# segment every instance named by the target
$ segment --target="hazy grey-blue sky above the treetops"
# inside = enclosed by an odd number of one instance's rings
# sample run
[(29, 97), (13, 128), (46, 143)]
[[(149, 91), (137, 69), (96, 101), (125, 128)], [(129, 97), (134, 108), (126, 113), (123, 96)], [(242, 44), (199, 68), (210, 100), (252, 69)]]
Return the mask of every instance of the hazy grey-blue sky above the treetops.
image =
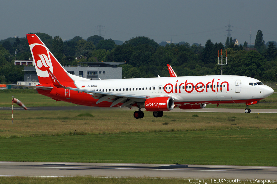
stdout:
[(2, 0), (0, 40), (47, 33), (63, 40), (99, 35), (126, 41), (147, 36), (157, 43), (171, 40), (204, 45), (225, 43), (226, 27), (240, 44), (254, 44), (257, 31), (263, 39), (277, 41), (276, 0)]

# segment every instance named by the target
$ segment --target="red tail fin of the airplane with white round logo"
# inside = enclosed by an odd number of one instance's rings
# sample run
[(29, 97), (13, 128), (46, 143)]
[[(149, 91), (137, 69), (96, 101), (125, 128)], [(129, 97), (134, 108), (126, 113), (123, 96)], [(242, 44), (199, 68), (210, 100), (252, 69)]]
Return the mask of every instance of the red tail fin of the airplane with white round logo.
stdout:
[(50, 70), (60, 83), (89, 80), (68, 73), (36, 34), (27, 34), (40, 84), (51, 84)]

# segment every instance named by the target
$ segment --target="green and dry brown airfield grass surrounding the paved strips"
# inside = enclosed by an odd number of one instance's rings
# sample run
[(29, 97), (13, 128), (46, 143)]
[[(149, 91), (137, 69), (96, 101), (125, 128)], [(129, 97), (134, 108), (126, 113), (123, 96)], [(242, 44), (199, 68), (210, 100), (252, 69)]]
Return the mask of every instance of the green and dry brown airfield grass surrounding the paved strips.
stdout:
[[(30, 106), (75, 106), (34, 90), (0, 92)], [(277, 108), (277, 96), (251, 108)], [(216, 105), (209, 105), (215, 108)], [(245, 108), (244, 104), (218, 108)], [(161, 118), (134, 110), (0, 111), (1, 161), (164, 163), (277, 166), (277, 117), (273, 113), (178, 113)], [(76, 130), (76, 131), (75, 131)], [(74, 134), (75, 132), (75, 134)], [(120, 133), (119, 133), (120, 132)], [(18, 138), (12, 138), (18, 137)], [(189, 183), (154, 178), (0, 177), (0, 183)]]

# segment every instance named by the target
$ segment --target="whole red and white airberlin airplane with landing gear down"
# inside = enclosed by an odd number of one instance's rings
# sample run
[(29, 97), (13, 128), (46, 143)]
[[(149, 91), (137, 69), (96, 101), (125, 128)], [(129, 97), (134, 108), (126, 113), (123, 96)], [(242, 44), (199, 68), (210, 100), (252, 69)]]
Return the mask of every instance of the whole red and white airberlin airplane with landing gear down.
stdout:
[(177, 106), (201, 109), (207, 104), (245, 103), (245, 113), (250, 113), (248, 105), (257, 104), (274, 92), (257, 79), (232, 75), (85, 79), (65, 71), (36, 34), (27, 34), (27, 39), (40, 83), (32, 87), (39, 94), (78, 105), (137, 107), (134, 112), (137, 119), (144, 116), (141, 108), (153, 112), (154, 117), (162, 117), (163, 111)]

